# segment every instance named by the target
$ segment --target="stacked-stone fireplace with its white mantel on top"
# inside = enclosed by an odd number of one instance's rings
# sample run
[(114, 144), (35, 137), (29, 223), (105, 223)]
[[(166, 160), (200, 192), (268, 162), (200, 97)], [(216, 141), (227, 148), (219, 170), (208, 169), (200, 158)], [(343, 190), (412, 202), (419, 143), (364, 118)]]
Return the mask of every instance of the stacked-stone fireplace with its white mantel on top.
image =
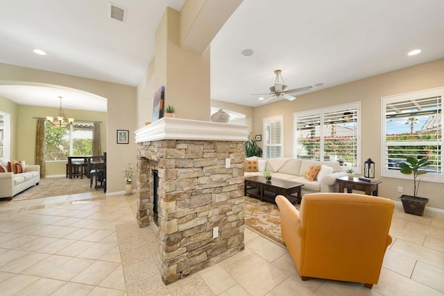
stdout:
[(146, 227), (157, 207), (164, 283), (244, 249), (247, 135), (247, 126), (176, 118), (136, 131), (137, 220)]

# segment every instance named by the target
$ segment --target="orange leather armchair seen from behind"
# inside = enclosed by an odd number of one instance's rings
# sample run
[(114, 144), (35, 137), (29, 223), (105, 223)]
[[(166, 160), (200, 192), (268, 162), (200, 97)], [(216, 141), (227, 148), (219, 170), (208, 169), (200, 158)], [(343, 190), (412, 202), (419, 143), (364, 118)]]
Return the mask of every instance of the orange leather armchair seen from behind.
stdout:
[(309, 277), (354, 281), (372, 288), (391, 244), (393, 201), (350, 193), (305, 195), (300, 211), (282, 195), (282, 238), (302, 281)]

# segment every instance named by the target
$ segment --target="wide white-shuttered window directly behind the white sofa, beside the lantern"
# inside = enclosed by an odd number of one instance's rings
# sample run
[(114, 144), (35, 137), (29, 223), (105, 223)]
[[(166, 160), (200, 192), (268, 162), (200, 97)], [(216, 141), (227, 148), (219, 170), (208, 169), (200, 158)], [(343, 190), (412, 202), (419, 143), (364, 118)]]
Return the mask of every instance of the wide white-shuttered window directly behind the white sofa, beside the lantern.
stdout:
[(296, 158), (339, 161), (359, 172), (360, 103), (295, 113)]

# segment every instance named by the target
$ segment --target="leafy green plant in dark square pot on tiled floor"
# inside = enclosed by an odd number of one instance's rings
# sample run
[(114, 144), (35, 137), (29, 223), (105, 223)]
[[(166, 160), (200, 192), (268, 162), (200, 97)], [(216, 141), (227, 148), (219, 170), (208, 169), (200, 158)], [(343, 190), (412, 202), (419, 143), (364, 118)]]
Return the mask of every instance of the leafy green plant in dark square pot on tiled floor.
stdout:
[(426, 197), (418, 197), (418, 189), (421, 179), (418, 176), (427, 174), (426, 170), (421, 170), (422, 167), (430, 165), (428, 158), (416, 159), (407, 157), (406, 161), (399, 164), (402, 174), (413, 174), (413, 196), (401, 195), (402, 207), (405, 213), (422, 216), (424, 208), (429, 199)]

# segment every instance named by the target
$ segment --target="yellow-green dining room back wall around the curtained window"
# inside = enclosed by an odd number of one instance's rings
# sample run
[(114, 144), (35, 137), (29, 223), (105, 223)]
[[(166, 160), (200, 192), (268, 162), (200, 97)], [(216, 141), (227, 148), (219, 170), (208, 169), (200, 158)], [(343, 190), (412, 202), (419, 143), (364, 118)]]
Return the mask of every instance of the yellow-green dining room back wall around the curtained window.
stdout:
[[(17, 135), (18, 139), (18, 158), (20, 160), (25, 160), (26, 163), (34, 163), (34, 149), (29, 149), (29, 147), (35, 147), (35, 118), (33, 117), (46, 117), (46, 115), (56, 116), (58, 113), (58, 108), (48, 108), (48, 107), (37, 107), (37, 106), (24, 106), (19, 105), (18, 108), (18, 118), (19, 118), (19, 129)], [(106, 113), (104, 112), (93, 112), (85, 110), (73, 110), (66, 109), (65, 114), (69, 117), (74, 117), (74, 120), (88, 120), (97, 121), (101, 123), (101, 148), (102, 151), (106, 151)], [(65, 164), (67, 162), (48, 162), (46, 163), (46, 176), (53, 175), (64, 175)]]

